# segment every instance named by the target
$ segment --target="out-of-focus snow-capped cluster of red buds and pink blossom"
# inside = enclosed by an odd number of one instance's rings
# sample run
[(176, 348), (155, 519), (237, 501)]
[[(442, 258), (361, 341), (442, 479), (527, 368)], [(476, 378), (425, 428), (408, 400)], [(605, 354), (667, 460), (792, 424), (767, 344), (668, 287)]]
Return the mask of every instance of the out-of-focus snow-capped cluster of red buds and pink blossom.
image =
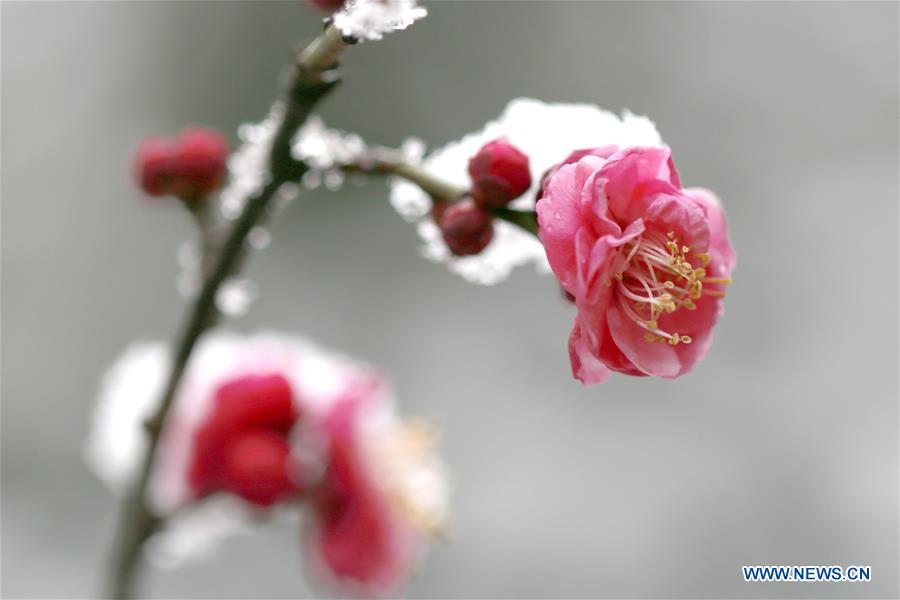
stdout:
[[(167, 366), (164, 345), (137, 346), (105, 379), (88, 460), (114, 489), (133, 481)], [(398, 593), (446, 519), (435, 438), (399, 417), (370, 366), (289, 336), (209, 334), (160, 440), (148, 501), (167, 519), (151, 558), (174, 565), (261, 515), (302, 513), (303, 562), (319, 579), (347, 595)]]

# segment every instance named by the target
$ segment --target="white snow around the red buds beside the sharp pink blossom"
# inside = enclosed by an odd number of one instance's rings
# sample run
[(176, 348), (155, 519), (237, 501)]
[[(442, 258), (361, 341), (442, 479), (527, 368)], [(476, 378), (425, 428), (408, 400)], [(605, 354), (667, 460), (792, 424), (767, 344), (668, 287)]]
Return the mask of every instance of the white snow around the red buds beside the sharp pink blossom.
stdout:
[[(467, 189), (469, 159), (487, 142), (506, 137), (528, 155), (532, 187), (510, 207), (534, 210), (541, 175), (571, 151), (616, 144), (657, 146), (662, 143), (656, 127), (646, 117), (625, 112), (621, 118), (593, 104), (545, 104), (538, 100), (513, 100), (496, 121), (481, 131), (470, 133), (432, 152), (422, 168), (445, 181)], [(428, 217), (431, 201), (418, 186), (393, 178), (391, 204), (408, 221), (418, 222), (424, 245), (422, 255), (445, 262), (450, 270), (468, 281), (494, 284), (505, 279), (519, 265), (534, 264), (538, 272), (549, 273), (544, 247), (530, 233), (505, 221), (494, 222), (494, 239), (476, 256), (455, 257), (444, 244), (440, 230)]]

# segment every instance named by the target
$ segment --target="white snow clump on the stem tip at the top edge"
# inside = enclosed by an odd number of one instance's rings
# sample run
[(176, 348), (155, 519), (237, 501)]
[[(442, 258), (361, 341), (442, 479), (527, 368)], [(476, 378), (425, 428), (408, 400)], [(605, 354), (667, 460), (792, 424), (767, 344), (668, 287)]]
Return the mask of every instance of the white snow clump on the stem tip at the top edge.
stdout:
[(334, 15), (334, 26), (358, 40), (380, 40), (427, 14), (416, 0), (350, 0)]

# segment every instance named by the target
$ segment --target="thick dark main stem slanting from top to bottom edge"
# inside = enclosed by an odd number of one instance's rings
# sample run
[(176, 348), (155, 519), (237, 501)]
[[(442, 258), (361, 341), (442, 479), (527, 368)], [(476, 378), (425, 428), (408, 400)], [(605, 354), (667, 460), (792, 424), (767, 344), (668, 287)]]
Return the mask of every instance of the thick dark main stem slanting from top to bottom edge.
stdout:
[(241, 215), (235, 221), (218, 254), (212, 258), (203, 287), (194, 299), (187, 319), (176, 338), (172, 366), (159, 408), (146, 423), (148, 444), (140, 476), (121, 509), (109, 590), (110, 595), (115, 598), (124, 599), (132, 596), (143, 544), (162, 523), (162, 519), (146, 506), (147, 488), (159, 446), (160, 433), (188, 360), (197, 340), (204, 331), (215, 325), (218, 319), (216, 294), (222, 284), (240, 268), (247, 234), (264, 218), (279, 188), (286, 182), (296, 180), (305, 171), (305, 166), (291, 156), (291, 141), (313, 107), (337, 85), (339, 77), (334, 67), (345, 48), (346, 43), (341, 39), (340, 32), (329, 25), (297, 57), (287, 89), (284, 116), (272, 141), (269, 155), (271, 177), (261, 190), (247, 198)]

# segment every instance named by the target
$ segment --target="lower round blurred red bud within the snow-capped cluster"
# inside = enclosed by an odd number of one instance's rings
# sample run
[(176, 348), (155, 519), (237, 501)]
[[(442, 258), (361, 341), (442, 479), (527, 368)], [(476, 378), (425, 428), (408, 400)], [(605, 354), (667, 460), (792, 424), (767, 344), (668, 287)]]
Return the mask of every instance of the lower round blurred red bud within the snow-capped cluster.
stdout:
[(287, 441), (270, 431), (243, 433), (222, 453), (223, 487), (247, 502), (271, 506), (294, 491)]

